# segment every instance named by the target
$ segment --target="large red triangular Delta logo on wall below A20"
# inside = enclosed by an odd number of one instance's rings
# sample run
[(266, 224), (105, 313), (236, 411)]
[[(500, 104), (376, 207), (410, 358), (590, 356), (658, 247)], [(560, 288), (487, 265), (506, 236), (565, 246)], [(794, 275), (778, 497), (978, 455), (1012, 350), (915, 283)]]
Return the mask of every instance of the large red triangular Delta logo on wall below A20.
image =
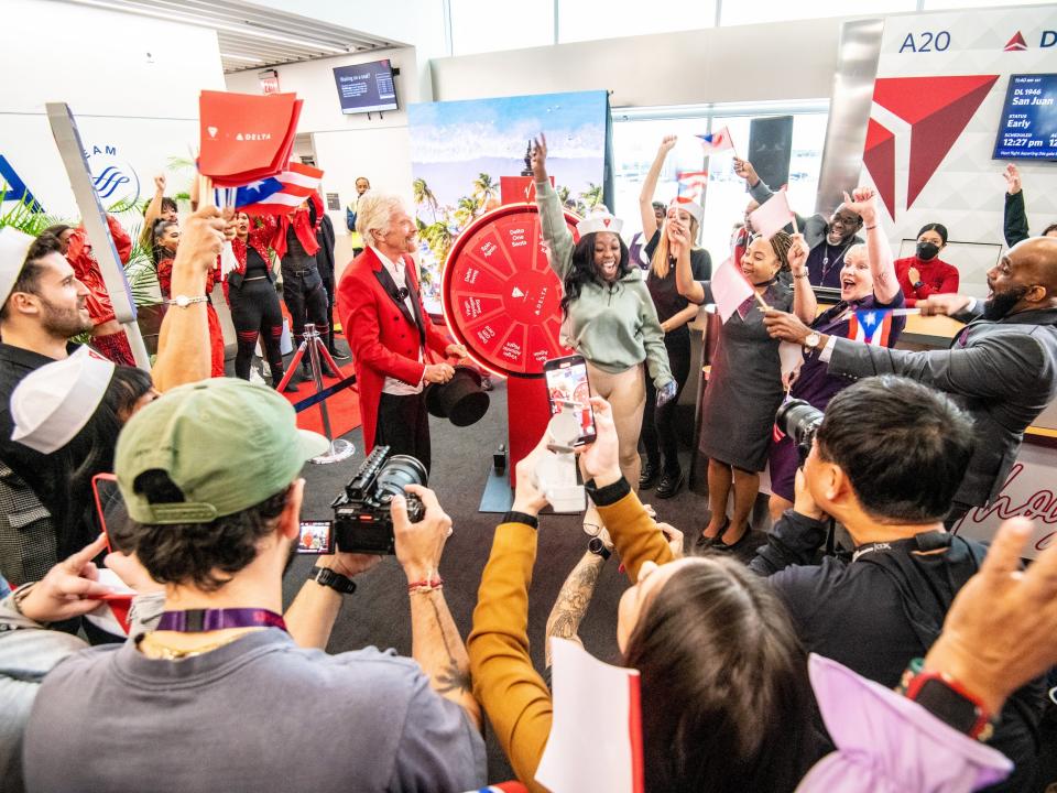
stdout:
[(962, 77), (882, 77), (873, 86), (862, 162), (894, 219), (896, 133), (873, 116), (891, 115), (909, 124), (906, 208), (925, 189), (944, 157), (961, 137), (999, 75)]

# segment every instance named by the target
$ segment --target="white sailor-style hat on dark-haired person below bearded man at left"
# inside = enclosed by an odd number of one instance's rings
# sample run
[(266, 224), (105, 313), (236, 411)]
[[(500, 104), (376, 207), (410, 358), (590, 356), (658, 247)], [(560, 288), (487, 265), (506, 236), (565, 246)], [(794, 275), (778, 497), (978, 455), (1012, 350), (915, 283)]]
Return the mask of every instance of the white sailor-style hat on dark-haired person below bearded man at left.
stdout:
[(11, 439), (42, 454), (61, 449), (91, 419), (113, 370), (112, 361), (80, 347), (26, 374), (11, 394)]

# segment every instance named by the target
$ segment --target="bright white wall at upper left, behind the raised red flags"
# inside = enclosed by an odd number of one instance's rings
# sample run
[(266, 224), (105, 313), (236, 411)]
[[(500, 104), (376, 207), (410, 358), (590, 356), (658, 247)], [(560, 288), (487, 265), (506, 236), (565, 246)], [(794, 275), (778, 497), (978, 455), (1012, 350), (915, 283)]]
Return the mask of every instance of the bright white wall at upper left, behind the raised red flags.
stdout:
[(152, 195), (152, 176), (198, 140), (199, 90), (224, 88), (216, 33), (200, 28), (4, 0), (3, 29), (0, 154), (47, 211), (64, 217), (78, 213), (44, 102), (69, 104), (94, 174), (113, 164), (128, 177), (108, 204), (137, 186)]

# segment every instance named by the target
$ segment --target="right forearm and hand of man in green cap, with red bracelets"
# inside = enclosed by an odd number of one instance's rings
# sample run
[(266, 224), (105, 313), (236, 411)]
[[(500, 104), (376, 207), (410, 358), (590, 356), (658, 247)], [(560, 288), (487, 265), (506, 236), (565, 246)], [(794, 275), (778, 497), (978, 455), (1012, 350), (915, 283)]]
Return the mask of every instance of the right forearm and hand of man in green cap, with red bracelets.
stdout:
[(439, 583), (440, 554), (451, 519), (432, 490), (415, 485), (405, 490), (418, 496), (426, 508), (425, 517), (412, 523), (404, 499), (396, 497), (392, 502), (396, 560), (407, 576), (411, 597), (411, 654), (429, 677), (433, 689), (460, 705), (481, 728), (481, 708), (470, 685), (470, 660)]

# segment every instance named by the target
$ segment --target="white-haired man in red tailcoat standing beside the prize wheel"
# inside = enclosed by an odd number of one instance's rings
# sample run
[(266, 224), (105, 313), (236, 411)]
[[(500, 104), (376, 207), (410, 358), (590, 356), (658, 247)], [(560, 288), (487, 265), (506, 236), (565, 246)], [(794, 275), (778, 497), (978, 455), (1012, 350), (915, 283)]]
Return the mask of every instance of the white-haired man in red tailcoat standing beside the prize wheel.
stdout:
[(417, 457), (429, 470), (425, 383), (445, 383), (449, 363), (428, 363), (427, 350), (466, 357), (423, 308), (411, 253), (417, 230), (401, 199), (366, 193), (356, 214), (363, 252), (338, 284), (338, 316), (352, 350), (363, 419), (364, 453), (375, 445)]

